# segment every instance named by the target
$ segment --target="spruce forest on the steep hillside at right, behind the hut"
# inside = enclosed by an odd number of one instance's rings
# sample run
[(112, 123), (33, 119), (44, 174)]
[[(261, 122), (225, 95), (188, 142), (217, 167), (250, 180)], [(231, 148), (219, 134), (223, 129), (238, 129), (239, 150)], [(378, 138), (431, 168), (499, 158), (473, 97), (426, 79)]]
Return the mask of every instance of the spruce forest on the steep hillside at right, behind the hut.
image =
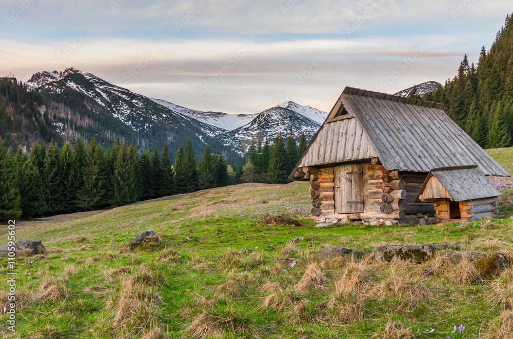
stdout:
[[(411, 96), (415, 96), (412, 93)], [(513, 136), (513, 18), (506, 16), (478, 65), (465, 55), (458, 75), (425, 100), (444, 103), (445, 112), (480, 146), (492, 149), (511, 145)]]

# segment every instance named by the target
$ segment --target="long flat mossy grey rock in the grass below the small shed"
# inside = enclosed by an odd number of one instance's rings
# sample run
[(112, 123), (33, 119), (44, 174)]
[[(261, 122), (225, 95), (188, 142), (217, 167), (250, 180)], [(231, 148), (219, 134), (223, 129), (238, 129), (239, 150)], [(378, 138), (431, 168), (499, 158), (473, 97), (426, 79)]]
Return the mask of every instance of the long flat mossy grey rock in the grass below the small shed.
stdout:
[(435, 257), (435, 253), (443, 249), (459, 250), (454, 245), (405, 245), (405, 246), (381, 246), (374, 251), (374, 259), (383, 261), (411, 260), (424, 262)]

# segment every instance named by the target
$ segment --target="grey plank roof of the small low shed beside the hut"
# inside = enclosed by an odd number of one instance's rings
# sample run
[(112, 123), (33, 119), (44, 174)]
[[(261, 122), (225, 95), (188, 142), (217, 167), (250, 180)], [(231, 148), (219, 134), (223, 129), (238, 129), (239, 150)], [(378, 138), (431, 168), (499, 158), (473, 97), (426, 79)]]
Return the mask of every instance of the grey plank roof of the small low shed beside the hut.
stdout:
[(477, 167), (477, 165), (473, 165), (431, 169), (415, 199), (415, 203), (420, 202), (419, 196), (424, 192), (431, 176), (440, 181), (455, 201), (502, 196), (494, 184)]

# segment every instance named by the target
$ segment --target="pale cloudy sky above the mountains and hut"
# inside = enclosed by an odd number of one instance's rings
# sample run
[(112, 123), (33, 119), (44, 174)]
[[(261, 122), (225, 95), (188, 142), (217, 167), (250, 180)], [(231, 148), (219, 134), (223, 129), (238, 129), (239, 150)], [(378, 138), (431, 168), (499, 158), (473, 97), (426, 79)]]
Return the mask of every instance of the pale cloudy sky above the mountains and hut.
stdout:
[(512, 12), (511, 0), (0, 0), (0, 76), (73, 67), (201, 111), (329, 111), (346, 86), (443, 84)]

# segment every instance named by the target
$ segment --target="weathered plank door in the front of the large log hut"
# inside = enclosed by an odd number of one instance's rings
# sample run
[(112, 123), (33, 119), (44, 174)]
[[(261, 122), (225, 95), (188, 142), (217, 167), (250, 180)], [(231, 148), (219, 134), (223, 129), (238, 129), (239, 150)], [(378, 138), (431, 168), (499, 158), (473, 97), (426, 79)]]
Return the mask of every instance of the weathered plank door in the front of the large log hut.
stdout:
[(335, 213), (363, 213), (365, 209), (364, 164), (335, 166)]

